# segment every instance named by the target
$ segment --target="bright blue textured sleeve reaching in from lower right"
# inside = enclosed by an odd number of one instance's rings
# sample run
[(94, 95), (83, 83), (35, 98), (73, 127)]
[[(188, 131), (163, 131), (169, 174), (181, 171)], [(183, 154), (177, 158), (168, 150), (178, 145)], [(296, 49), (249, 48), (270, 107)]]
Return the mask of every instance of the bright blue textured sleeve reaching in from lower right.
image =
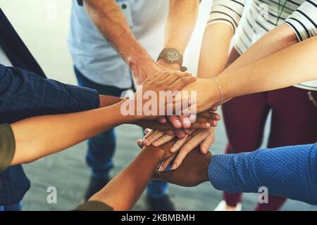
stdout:
[(209, 180), (222, 191), (257, 193), (265, 186), (270, 195), (317, 205), (317, 143), (213, 155)]

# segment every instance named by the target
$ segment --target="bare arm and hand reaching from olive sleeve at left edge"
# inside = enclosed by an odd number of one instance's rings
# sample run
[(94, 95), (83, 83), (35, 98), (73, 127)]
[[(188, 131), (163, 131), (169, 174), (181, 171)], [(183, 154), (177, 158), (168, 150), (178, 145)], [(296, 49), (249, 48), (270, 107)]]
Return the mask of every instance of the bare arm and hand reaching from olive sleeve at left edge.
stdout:
[[(195, 79), (185, 73), (178, 73), (178, 75), (162, 73), (152, 75), (142, 85), (144, 91), (151, 90), (159, 95), (161, 89), (180, 90)], [(135, 94), (137, 95), (138, 93)], [(123, 105), (127, 101), (135, 103), (135, 98), (123, 100), (105, 108), (64, 115), (32, 117), (11, 124), (15, 137), (15, 154), (11, 165), (32, 162), (96, 136), (101, 131), (116, 127), (118, 124), (135, 123), (137, 120), (150, 117), (156, 119), (159, 114), (156, 112), (157, 115), (146, 116), (144, 112), (140, 115), (134, 112), (132, 115), (124, 115)], [(163, 107), (158, 105), (158, 108), (160, 106)], [(143, 108), (143, 105), (141, 107)]]

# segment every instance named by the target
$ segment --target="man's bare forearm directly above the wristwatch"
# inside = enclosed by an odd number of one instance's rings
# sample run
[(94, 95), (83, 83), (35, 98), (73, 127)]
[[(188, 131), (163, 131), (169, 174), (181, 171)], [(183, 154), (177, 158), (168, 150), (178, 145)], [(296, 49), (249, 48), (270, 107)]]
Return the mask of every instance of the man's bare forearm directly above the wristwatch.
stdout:
[(170, 0), (164, 48), (184, 53), (198, 15), (198, 0)]

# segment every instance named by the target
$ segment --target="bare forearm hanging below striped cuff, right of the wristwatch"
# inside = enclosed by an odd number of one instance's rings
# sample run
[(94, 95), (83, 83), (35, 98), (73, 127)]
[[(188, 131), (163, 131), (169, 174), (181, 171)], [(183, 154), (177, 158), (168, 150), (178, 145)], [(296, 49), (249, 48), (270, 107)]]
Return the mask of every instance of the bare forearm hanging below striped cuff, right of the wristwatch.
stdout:
[(225, 23), (213, 23), (206, 27), (201, 44), (198, 77), (216, 77), (225, 69), (232, 39), (232, 29)]

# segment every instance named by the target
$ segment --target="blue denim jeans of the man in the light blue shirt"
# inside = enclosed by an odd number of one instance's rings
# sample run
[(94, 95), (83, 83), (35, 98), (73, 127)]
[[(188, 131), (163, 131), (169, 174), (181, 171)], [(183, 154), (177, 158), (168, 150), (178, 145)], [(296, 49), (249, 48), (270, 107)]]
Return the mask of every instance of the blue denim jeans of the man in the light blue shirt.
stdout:
[[(116, 86), (97, 84), (87, 79), (74, 67), (75, 75), (80, 86), (95, 89), (99, 94), (108, 96), (120, 96), (125, 89)], [(86, 155), (87, 165), (92, 169), (92, 176), (95, 178), (106, 178), (113, 168), (113, 155), (116, 150), (115, 129), (105, 131), (98, 136), (88, 140), (88, 151)], [(152, 198), (159, 198), (168, 194), (168, 184), (163, 181), (150, 181), (147, 191)]]

